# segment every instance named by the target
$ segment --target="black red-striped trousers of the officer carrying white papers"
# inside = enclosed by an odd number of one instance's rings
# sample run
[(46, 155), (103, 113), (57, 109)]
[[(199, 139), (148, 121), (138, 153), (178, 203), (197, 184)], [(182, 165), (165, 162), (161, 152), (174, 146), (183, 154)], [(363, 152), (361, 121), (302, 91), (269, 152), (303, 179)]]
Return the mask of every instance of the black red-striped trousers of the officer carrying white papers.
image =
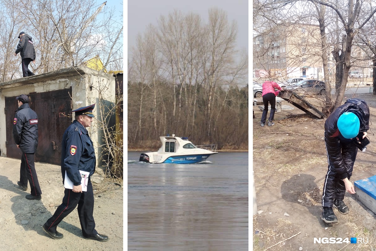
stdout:
[(82, 234), (84, 237), (95, 236), (98, 232), (95, 230), (93, 218), (94, 194), (91, 181), (88, 181), (87, 192), (75, 193), (72, 189), (65, 189), (63, 202), (56, 209), (53, 216), (47, 220), (46, 226), (49, 231), (56, 232), (59, 223), (76, 208), (78, 204), (78, 217), (80, 219)]

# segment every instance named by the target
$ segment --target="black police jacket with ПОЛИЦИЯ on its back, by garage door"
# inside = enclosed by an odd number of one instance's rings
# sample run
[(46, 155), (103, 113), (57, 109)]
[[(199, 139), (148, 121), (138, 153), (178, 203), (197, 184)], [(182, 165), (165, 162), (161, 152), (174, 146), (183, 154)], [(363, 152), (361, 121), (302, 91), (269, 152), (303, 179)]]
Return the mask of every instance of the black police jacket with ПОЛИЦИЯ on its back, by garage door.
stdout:
[(14, 114), (13, 138), (24, 153), (32, 154), (38, 147), (38, 116), (28, 103), (21, 105)]

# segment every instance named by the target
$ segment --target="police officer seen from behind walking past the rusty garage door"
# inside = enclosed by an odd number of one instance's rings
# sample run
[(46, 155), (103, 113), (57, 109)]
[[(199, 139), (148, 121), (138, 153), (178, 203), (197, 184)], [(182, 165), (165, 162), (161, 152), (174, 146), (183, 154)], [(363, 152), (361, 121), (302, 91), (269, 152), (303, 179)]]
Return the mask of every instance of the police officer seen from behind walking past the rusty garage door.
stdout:
[(41, 187), (36, 176), (34, 153), (38, 146), (38, 116), (29, 106), (29, 97), (21, 94), (16, 97), (18, 109), (13, 120), (13, 138), (17, 147), (21, 149), (20, 181), (18, 186), (27, 190), (29, 180), (31, 194), (26, 199), (41, 199)]

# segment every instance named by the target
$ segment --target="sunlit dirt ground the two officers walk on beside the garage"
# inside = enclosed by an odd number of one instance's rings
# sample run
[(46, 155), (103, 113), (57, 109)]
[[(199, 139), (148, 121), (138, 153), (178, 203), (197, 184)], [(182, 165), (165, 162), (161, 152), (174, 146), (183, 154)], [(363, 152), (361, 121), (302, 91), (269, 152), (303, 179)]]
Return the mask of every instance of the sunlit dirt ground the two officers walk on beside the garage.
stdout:
[[(108, 235), (108, 242), (83, 239), (76, 209), (58, 226), (64, 238), (54, 240), (44, 233), (42, 225), (64, 195), (60, 166), (35, 163), (42, 199), (29, 201), (25, 196), (30, 194), (30, 187), (23, 191), (17, 185), (20, 163), (17, 159), (0, 157), (0, 250), (123, 250), (123, 186), (114, 190), (119, 186), (108, 184), (110, 189), (99, 192), (108, 181), (93, 183), (96, 230)], [(23, 221), (27, 224), (22, 224)]]

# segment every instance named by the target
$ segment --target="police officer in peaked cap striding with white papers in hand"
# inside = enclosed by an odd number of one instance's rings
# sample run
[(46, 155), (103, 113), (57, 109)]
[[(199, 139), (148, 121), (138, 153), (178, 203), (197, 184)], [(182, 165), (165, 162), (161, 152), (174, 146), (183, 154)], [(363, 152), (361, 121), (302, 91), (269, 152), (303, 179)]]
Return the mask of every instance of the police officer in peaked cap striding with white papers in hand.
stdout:
[[(43, 230), (53, 239), (62, 239), (63, 234), (56, 231), (58, 224), (78, 204), (78, 215), (82, 228), (82, 235), (85, 239), (108, 241), (108, 237), (99, 234), (95, 230), (93, 218), (94, 195), (90, 176), (94, 173), (96, 166), (96, 156), (92, 141), (86, 131), (90, 127), (92, 111), (95, 104), (74, 110), (73, 123), (65, 130), (61, 143), (61, 174), (63, 184), (65, 172), (73, 182), (73, 189), (65, 189), (62, 204), (56, 209), (53, 216), (43, 225)], [(81, 175), (79, 170), (89, 172), (87, 191), (82, 192)]]

